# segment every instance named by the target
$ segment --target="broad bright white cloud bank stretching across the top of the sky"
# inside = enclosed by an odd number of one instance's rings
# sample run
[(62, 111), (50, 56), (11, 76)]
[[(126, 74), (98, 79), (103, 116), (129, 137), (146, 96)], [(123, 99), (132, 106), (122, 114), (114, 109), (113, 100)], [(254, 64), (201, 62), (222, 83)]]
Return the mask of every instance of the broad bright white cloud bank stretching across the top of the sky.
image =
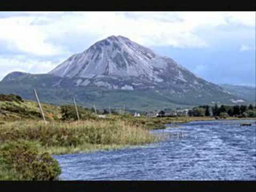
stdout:
[(19, 51), (36, 55), (67, 53), (68, 47), (49, 41), (54, 38), (63, 38), (65, 42), (65, 38), (83, 35), (97, 41), (110, 35), (123, 35), (145, 46), (204, 47), (207, 42), (196, 33), (200, 27), (210, 29), (232, 23), (255, 26), (255, 12), (21, 13), (0, 18), (0, 39)]

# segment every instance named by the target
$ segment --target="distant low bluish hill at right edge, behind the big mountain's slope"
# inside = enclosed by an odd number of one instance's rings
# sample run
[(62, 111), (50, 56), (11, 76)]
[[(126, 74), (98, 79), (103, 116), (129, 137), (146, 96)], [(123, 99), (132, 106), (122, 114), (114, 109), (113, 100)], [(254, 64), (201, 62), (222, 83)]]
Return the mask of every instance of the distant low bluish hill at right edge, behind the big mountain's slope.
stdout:
[(241, 97), (249, 102), (256, 103), (256, 87), (220, 84), (220, 86), (229, 93)]

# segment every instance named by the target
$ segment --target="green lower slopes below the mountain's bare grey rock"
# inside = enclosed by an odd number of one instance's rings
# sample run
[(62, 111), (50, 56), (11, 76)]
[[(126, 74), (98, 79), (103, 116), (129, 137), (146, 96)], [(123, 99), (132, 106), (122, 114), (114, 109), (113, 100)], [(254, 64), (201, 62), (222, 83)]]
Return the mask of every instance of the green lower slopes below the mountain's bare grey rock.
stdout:
[[(42, 102), (55, 105), (72, 103), (73, 97), (76, 97), (78, 105), (87, 108), (92, 108), (95, 103), (98, 109), (109, 106), (123, 109), (125, 106), (128, 110), (138, 111), (191, 108), (198, 105), (214, 105), (214, 103), (230, 105), (234, 104), (231, 99), (241, 98), (239, 93), (230, 95), (225, 92), (214, 92), (210, 86), (207, 90), (175, 92), (169, 89), (109, 90), (95, 86), (76, 86), (76, 82), (76, 78), (19, 73), (15, 77), (7, 75), (0, 82), (0, 94), (12, 93), (24, 99), (35, 100), (33, 89), (36, 89)], [(243, 99), (252, 100), (251, 96)]]

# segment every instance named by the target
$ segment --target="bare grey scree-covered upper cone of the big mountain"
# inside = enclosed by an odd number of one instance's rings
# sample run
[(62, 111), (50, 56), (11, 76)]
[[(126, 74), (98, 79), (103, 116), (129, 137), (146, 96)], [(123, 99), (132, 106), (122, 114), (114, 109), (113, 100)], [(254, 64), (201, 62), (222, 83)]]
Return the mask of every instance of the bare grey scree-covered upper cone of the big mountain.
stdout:
[(49, 74), (75, 78), (76, 86), (223, 92), (220, 86), (196, 77), (171, 58), (158, 55), (123, 36), (110, 36), (95, 43), (84, 52), (71, 56)]

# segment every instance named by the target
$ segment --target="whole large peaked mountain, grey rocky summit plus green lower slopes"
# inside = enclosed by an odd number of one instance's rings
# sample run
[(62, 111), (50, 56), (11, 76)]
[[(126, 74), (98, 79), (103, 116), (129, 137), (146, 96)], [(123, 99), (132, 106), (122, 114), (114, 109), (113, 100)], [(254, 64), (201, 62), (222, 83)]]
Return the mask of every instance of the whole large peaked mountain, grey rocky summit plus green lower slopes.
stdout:
[[(0, 82), (0, 93), (44, 102), (97, 103), (131, 109), (244, 103), (219, 85), (197, 77), (173, 59), (156, 54), (123, 36), (110, 36), (74, 54), (48, 74), (13, 72)], [(31, 94), (32, 93), (32, 94)]]

